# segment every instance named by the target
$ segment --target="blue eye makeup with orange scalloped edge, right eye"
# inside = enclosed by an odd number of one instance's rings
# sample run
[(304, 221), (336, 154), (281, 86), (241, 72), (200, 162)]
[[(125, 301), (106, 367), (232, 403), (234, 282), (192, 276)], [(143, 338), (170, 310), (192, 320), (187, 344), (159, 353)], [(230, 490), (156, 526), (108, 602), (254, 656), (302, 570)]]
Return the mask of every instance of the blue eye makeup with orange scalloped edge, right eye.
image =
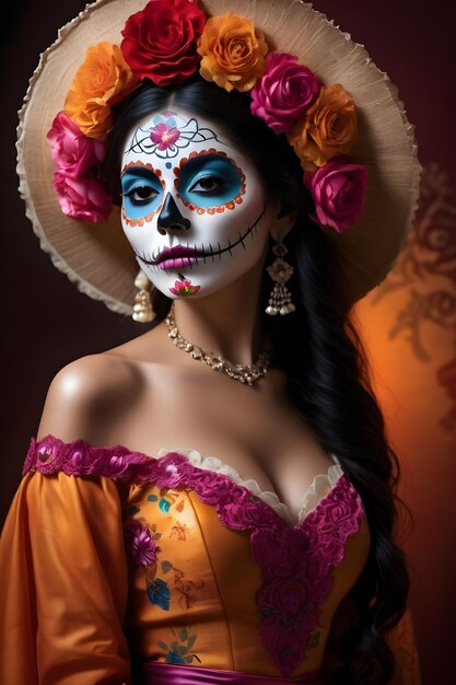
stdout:
[(185, 202), (207, 209), (233, 200), (242, 184), (242, 172), (233, 162), (219, 154), (204, 154), (182, 167), (178, 190)]

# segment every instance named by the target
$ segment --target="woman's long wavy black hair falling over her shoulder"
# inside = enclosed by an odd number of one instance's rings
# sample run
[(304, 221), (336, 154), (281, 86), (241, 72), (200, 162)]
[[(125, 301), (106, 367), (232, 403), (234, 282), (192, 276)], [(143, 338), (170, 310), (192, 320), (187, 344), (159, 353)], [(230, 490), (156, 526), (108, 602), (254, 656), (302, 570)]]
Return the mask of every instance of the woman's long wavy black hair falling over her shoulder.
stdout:
[[(402, 616), (409, 589), (405, 557), (394, 542), (399, 465), (385, 437), (366, 355), (350, 317), (349, 288), (332, 243), (308, 218), (301, 165), (285, 136), (277, 136), (252, 115), (248, 96), (227, 93), (199, 77), (177, 88), (145, 82), (115, 108), (102, 171), (113, 197), (120, 196), (119, 160), (126, 131), (140, 118), (172, 106), (226, 127), (257, 164), (268, 190), (282, 198), (284, 210), (297, 211), (285, 240), (295, 269), (290, 289), (296, 311), (288, 316), (264, 314), (262, 325), (272, 341), (274, 361), (287, 373), (294, 405), (321, 446), (338, 455), (362, 498), (371, 532), (366, 566), (344, 601), (350, 602), (354, 618), (337, 645), (327, 649), (323, 678), (338, 685), (386, 684), (395, 663), (385, 636)], [(265, 278), (262, 311), (269, 290)], [(153, 326), (166, 316), (171, 302), (154, 290)]]

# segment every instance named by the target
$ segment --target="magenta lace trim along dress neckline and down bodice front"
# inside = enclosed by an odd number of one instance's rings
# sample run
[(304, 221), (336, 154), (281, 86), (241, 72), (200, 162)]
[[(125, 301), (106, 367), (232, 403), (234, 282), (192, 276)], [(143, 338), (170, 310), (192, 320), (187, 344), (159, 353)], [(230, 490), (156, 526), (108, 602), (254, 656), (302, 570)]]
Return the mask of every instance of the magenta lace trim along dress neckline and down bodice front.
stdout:
[(66, 443), (47, 436), (38, 442), (32, 439), (23, 474), (30, 471), (192, 489), (215, 507), (224, 525), (252, 531), (252, 555), (264, 580), (257, 594), (259, 634), (285, 677), (304, 660), (319, 607), (332, 589), (331, 567), (342, 560), (347, 538), (364, 518), (361, 498), (346, 475), (297, 525), (289, 527), (246, 487), (194, 466), (178, 452), (154, 458), (122, 445), (94, 448), (83, 440)]

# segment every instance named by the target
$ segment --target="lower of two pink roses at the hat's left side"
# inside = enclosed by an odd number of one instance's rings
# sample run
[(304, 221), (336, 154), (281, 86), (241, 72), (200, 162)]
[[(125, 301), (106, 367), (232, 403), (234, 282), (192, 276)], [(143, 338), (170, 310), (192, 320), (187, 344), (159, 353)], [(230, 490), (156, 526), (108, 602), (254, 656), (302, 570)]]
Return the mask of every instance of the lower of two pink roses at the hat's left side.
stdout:
[(95, 223), (106, 220), (112, 210), (104, 186), (92, 176), (72, 176), (65, 171), (54, 174), (54, 187), (67, 217)]

